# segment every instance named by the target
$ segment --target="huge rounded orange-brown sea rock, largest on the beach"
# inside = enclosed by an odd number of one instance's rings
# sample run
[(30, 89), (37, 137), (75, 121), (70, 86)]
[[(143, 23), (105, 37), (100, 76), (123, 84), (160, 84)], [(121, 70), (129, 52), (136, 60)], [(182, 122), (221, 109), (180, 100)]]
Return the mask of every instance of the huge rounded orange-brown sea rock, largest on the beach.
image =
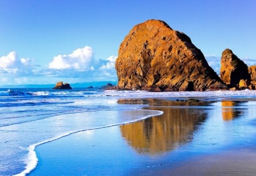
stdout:
[(131, 29), (120, 45), (115, 68), (121, 89), (226, 88), (190, 38), (160, 20), (148, 20)]

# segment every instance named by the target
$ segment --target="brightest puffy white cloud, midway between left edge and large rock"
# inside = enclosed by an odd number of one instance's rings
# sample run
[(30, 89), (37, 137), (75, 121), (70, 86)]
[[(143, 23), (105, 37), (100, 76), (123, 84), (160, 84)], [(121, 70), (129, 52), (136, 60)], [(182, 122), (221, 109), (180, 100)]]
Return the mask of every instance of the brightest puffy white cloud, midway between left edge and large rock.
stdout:
[(76, 49), (72, 54), (53, 57), (53, 61), (49, 63), (49, 68), (87, 70), (91, 69), (92, 60), (92, 48), (85, 46), (84, 48)]

